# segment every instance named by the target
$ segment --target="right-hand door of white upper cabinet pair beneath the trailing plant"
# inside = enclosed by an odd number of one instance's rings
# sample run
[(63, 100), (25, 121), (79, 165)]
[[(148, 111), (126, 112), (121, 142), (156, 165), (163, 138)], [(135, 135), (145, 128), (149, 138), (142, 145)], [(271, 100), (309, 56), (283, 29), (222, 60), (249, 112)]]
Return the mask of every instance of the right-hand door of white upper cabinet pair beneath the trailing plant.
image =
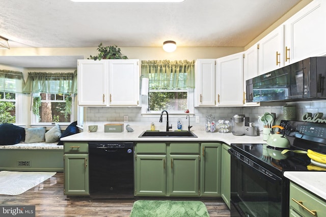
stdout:
[(139, 105), (139, 66), (138, 60), (112, 59), (109, 61), (110, 106)]

